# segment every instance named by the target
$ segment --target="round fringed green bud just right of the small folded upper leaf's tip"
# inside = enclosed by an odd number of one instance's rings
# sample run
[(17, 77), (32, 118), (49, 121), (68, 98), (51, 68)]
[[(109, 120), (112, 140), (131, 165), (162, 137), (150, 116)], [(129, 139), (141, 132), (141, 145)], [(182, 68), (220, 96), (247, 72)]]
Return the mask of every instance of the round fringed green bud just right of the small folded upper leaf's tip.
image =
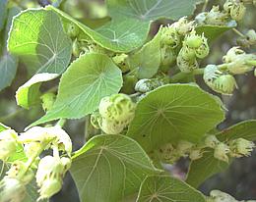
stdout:
[(180, 44), (180, 36), (175, 28), (171, 26), (161, 26), (160, 41), (163, 45), (175, 48)]

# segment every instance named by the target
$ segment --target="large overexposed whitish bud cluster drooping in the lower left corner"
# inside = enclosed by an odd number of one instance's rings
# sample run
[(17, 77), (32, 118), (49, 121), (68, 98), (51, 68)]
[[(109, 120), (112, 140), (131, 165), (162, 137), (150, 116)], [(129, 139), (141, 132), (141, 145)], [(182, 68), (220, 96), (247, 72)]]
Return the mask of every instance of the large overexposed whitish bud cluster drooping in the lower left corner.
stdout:
[[(9, 160), (22, 145), (27, 158), (14, 161), (0, 181), (0, 201), (23, 201), (26, 185), (32, 181), (36, 168), (35, 177), (40, 194), (38, 200), (49, 198), (61, 189), (62, 178), (71, 166), (72, 142), (60, 126), (34, 126), (21, 135), (12, 129), (0, 132), (1, 160)], [(52, 149), (53, 156), (40, 160), (39, 155), (46, 149)], [(60, 158), (59, 152), (68, 157)]]

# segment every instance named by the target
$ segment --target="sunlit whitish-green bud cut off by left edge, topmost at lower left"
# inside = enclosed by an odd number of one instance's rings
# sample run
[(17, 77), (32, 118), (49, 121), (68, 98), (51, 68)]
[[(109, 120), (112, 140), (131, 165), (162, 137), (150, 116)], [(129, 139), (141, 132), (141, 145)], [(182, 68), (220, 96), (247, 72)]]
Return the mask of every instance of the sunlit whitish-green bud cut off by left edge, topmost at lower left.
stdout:
[(13, 129), (0, 132), (0, 160), (6, 161), (16, 152), (18, 134)]

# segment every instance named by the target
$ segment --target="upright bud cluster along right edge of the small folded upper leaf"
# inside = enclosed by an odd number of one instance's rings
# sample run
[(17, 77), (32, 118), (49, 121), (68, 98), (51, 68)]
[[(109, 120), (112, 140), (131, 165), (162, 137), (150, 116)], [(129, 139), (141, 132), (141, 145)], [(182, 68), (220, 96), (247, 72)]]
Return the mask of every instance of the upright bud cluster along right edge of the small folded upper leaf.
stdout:
[(172, 25), (160, 27), (160, 57), (161, 66), (173, 65), (176, 60), (177, 48), (180, 48), (181, 40), (194, 29), (194, 22), (189, 22), (186, 17)]

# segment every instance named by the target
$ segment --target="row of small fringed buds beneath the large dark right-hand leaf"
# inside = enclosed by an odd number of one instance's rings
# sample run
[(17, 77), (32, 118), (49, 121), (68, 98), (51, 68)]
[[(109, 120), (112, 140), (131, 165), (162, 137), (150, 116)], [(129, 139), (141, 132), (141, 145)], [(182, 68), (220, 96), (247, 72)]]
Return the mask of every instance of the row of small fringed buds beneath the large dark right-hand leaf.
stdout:
[(186, 140), (179, 140), (177, 144), (166, 143), (158, 149), (157, 155), (161, 162), (173, 164), (181, 157), (189, 157), (194, 161), (203, 157), (206, 149), (214, 150), (214, 158), (228, 162), (229, 158), (250, 156), (255, 145), (244, 138), (221, 142), (215, 135), (208, 134), (203, 142), (194, 144)]

